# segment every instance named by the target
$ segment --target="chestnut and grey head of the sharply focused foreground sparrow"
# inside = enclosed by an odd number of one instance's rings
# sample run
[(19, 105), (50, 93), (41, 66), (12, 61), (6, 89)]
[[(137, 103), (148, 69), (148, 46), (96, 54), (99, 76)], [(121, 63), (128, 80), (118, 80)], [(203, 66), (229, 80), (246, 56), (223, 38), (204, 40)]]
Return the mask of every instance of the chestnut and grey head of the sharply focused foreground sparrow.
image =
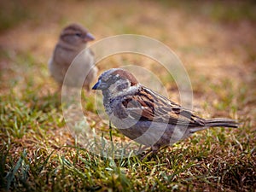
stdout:
[(108, 90), (112, 95), (119, 95), (137, 84), (137, 79), (130, 72), (122, 68), (112, 68), (102, 73), (92, 90)]

